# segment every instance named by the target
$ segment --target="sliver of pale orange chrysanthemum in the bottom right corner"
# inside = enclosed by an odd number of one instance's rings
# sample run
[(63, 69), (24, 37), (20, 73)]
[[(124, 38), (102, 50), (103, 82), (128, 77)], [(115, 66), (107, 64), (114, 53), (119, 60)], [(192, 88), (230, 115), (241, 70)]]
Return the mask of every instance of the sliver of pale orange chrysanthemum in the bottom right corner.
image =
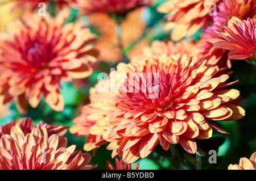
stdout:
[(239, 165), (230, 164), (228, 170), (256, 170), (256, 152), (254, 152), (250, 159), (241, 158)]

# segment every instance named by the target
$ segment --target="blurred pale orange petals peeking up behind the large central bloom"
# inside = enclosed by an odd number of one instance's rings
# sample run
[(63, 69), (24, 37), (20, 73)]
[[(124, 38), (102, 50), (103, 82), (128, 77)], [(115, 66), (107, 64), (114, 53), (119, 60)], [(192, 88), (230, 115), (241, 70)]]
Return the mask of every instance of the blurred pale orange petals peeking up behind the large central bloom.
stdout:
[(193, 56), (201, 57), (199, 45), (193, 40), (181, 40), (177, 43), (173, 41), (159, 41), (155, 40), (151, 43), (151, 46), (145, 46), (141, 53), (135, 54), (131, 57), (131, 62), (139, 61), (139, 59), (145, 57), (162, 56), (166, 54), (171, 56), (172, 54), (193, 54)]

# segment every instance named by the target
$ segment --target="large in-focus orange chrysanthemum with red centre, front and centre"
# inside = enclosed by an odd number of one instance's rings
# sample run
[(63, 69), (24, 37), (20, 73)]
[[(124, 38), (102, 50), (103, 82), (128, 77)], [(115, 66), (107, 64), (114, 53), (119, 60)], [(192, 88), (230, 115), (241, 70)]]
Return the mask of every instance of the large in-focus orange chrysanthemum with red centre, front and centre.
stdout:
[(147, 157), (158, 141), (165, 150), (180, 144), (195, 153), (195, 138), (212, 137), (212, 128), (226, 133), (207, 120), (238, 120), (245, 115), (235, 101), (239, 91), (225, 89), (236, 83), (225, 83), (225, 71), (188, 54), (120, 63), (108, 81), (100, 81), (90, 92), (92, 113), (84, 124), (95, 121), (90, 134), (102, 136), (91, 144), (110, 142), (112, 157), (118, 154), (125, 163)]

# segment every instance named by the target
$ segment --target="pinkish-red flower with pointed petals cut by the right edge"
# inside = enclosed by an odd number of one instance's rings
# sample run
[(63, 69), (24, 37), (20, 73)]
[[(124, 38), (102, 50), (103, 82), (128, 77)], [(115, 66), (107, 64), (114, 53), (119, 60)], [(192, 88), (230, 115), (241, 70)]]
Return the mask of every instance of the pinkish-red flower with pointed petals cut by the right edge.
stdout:
[[(233, 17), (230, 26), (224, 28), (225, 32), (219, 34), (222, 39), (209, 39), (214, 47), (229, 50), (228, 56), (234, 60), (254, 60), (256, 64), (256, 19), (247, 18), (243, 22)], [(233, 24), (233, 26), (231, 26)]]

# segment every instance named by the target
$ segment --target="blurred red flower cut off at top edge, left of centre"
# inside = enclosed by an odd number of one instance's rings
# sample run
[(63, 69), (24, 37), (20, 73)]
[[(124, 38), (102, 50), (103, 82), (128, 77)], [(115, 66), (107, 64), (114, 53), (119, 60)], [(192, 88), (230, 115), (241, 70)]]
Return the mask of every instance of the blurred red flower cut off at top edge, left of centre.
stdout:
[(68, 0), (71, 5), (81, 11), (81, 14), (104, 12), (106, 14), (122, 15), (138, 7), (148, 6), (151, 0)]

